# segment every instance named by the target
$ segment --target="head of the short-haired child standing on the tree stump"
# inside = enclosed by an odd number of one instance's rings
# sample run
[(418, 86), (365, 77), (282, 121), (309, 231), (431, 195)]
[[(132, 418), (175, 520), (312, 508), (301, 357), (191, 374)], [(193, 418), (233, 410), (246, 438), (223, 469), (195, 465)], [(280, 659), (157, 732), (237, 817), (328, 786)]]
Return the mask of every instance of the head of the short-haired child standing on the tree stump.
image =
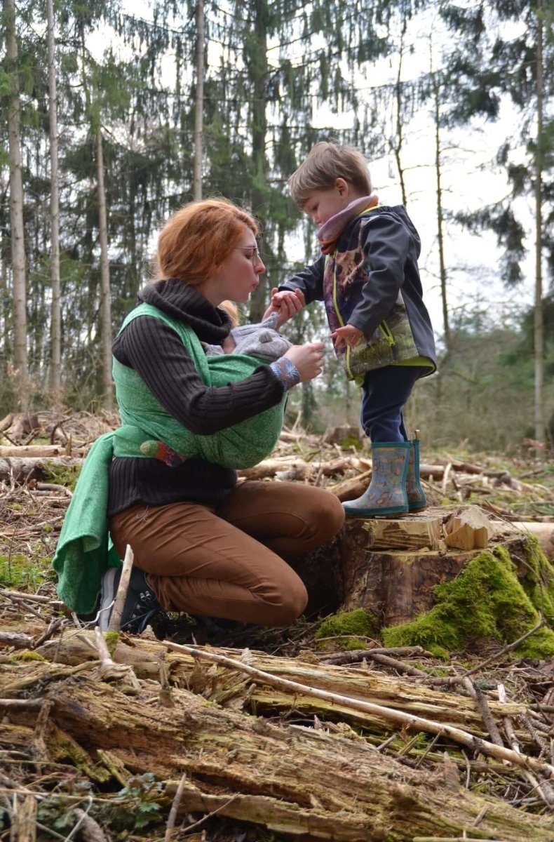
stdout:
[(321, 141), (290, 176), (289, 187), (296, 207), (319, 226), (351, 201), (370, 195), (370, 171), (354, 147)]

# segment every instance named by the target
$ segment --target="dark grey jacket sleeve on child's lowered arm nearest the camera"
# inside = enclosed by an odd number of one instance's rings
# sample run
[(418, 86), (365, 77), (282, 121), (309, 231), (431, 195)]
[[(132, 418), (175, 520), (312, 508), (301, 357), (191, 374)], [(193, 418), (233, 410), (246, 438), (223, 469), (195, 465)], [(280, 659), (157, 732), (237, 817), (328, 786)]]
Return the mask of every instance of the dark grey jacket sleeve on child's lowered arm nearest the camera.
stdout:
[(362, 299), (349, 317), (349, 324), (363, 331), (368, 339), (398, 299), (409, 247), (408, 230), (393, 216), (379, 214), (365, 223), (362, 248), (367, 280), (362, 288)]

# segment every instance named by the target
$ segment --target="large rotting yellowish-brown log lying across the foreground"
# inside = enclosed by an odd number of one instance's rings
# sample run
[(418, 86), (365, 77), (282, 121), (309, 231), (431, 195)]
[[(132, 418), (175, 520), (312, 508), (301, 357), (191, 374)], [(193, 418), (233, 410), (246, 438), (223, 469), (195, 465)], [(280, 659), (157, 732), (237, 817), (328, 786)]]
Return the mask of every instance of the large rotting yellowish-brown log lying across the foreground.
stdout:
[[(463, 790), (451, 777), (447, 783), (445, 775), (411, 769), (354, 732), (270, 724), (206, 704), (182, 687), (162, 695), (152, 681), (130, 696), (124, 685), (99, 679), (96, 664), (83, 666), (79, 672), (59, 663), (26, 668), (35, 677), (27, 692), (39, 690), (50, 706), (40, 730), (48, 756), (77, 762), (97, 780), (106, 771), (123, 780), (150, 772), (167, 782), (166, 807), (186, 771), (179, 816), (217, 809), (221, 817), (276, 833), (335, 842), (461, 836), (480, 816), (482, 838), (551, 839), (551, 818), (519, 813)], [(10, 671), (15, 682), (4, 684), (8, 698), (18, 692), (21, 668), (5, 665), (4, 678)], [(209, 672), (197, 669), (195, 680), (209, 684)], [(28, 751), (38, 717), (33, 707), (9, 708), (0, 744)]]

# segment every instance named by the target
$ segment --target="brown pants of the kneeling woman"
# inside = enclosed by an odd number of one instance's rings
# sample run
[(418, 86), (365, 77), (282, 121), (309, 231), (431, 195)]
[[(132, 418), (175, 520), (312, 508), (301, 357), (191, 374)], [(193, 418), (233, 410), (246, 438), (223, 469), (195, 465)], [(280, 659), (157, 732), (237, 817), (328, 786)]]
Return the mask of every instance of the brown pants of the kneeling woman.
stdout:
[(243, 482), (216, 509), (138, 504), (111, 518), (123, 557), (131, 544), (166, 610), (284, 626), (306, 588), (283, 560), (329, 541), (344, 522), (338, 499), (297, 482)]

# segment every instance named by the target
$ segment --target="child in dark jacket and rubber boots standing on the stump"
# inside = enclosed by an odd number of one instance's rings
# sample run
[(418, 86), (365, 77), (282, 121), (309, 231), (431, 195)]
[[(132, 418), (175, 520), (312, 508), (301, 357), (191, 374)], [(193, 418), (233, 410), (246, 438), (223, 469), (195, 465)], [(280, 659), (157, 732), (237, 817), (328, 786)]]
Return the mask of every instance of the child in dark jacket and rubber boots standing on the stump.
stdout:
[(353, 147), (317, 143), (289, 184), (296, 206), (317, 225), (322, 255), (272, 291), (270, 310), (295, 290), (306, 304), (324, 301), (334, 350), (361, 386), (373, 472), (365, 493), (343, 504), (345, 512), (376, 517), (424, 509), (419, 443), (408, 439), (402, 415), (415, 382), (436, 369), (418, 232), (402, 205), (379, 203), (365, 157)]

